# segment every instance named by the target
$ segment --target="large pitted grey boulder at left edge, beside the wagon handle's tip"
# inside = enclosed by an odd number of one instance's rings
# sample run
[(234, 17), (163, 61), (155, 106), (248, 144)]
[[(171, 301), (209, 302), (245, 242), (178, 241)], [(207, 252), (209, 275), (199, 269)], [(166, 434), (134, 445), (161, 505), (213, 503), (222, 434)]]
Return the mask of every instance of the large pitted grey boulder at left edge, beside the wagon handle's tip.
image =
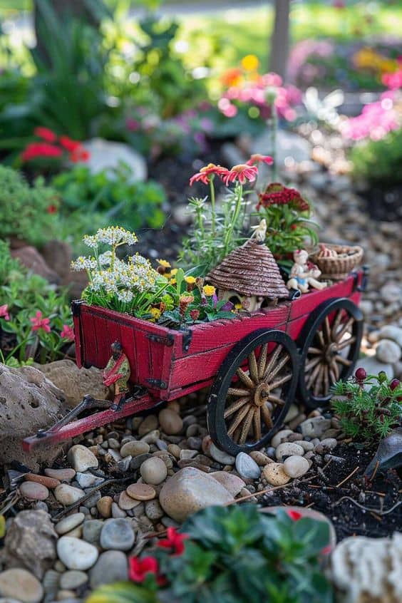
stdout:
[(19, 460), (32, 469), (52, 463), (61, 448), (24, 453), (22, 440), (48, 428), (68, 412), (66, 396), (33, 366), (11, 368), (0, 364), (0, 465)]

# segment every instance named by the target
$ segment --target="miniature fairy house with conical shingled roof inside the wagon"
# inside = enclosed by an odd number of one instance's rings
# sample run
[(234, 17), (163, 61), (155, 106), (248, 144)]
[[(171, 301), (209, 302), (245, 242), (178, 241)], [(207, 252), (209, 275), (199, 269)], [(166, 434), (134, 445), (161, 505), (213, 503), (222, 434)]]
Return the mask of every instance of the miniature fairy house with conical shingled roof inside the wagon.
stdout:
[(241, 304), (248, 311), (289, 297), (274, 256), (255, 239), (234, 249), (206, 280), (217, 288), (218, 299)]

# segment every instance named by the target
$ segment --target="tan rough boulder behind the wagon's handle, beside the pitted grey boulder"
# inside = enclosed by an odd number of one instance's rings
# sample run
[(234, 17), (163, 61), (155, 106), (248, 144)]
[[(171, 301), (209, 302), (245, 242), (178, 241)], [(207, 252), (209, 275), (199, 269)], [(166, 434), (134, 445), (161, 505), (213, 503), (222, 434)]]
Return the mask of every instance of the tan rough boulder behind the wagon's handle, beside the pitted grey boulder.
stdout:
[(109, 389), (102, 383), (102, 371), (95, 366), (78, 368), (72, 360), (56, 360), (37, 365), (46, 377), (66, 394), (68, 406), (73, 408), (89, 393), (93, 398), (107, 399)]

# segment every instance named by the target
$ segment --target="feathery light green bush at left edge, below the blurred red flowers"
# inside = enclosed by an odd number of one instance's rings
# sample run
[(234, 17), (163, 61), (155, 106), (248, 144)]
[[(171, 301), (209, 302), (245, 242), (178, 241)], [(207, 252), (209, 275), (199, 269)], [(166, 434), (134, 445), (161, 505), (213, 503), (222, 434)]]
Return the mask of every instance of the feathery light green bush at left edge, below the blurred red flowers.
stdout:
[(40, 245), (54, 234), (56, 217), (55, 191), (37, 178), (32, 186), (12, 168), (0, 165), (0, 223), (3, 237), (17, 237)]

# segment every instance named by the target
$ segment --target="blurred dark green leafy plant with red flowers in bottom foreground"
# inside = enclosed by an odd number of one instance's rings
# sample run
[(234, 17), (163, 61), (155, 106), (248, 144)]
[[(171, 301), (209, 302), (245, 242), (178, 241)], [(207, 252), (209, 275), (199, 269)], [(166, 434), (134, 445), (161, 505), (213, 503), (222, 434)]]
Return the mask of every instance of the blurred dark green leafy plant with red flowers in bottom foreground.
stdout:
[(328, 545), (329, 526), (299, 513), (209, 507), (130, 560), (136, 584), (100, 587), (87, 603), (332, 603), (319, 560)]

